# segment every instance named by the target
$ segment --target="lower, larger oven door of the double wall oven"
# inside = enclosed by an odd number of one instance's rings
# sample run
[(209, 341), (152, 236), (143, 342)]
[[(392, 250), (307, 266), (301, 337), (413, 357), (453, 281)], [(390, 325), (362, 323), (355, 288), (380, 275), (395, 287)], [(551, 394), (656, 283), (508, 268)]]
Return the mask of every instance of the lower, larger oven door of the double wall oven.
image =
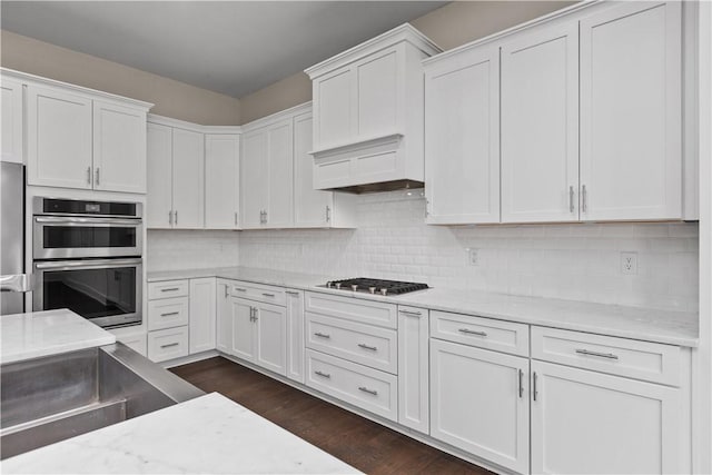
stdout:
[(141, 323), (142, 259), (36, 261), (34, 311), (68, 308), (100, 327)]

